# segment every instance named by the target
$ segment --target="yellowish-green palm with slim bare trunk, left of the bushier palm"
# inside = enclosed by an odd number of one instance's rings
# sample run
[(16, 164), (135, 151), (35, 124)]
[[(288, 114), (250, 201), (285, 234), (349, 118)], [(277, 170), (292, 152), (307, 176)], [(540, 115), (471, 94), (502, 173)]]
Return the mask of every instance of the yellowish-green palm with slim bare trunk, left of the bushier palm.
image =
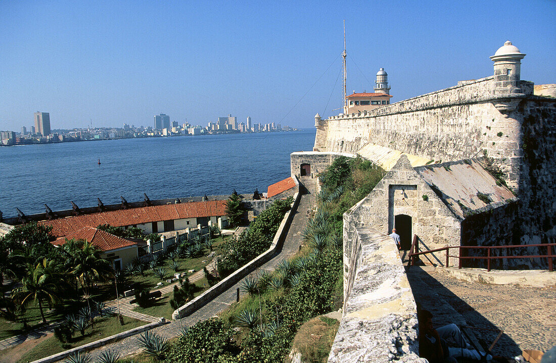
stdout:
[(14, 300), (22, 306), (31, 304), (31, 301), (38, 302), (41, 311), (42, 322), (46, 323), (46, 317), (42, 310), (42, 301), (54, 304), (60, 301), (58, 291), (60, 289), (57, 281), (56, 266), (54, 261), (43, 258), (37, 266), (28, 266), (27, 276), (21, 280), (21, 287), (14, 289)]

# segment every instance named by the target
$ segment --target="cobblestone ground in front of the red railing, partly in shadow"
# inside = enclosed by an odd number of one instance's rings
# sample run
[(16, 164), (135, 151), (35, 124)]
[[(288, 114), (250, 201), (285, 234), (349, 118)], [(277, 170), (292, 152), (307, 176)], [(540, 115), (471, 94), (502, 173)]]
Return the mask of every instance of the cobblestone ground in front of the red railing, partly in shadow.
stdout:
[[(556, 345), (556, 288), (485, 285), (454, 279), (437, 271), (408, 275), (413, 289), (415, 280), (424, 282), (429, 290), (414, 292), (415, 299), (436, 295), (458, 312), (466, 325), (498, 327), (504, 334), (493, 348), (495, 355), (514, 357), (522, 350), (547, 351)], [(420, 300), (420, 301), (419, 301)], [(433, 305), (441, 305), (436, 300)], [(433, 313), (434, 314), (434, 313)], [(456, 322), (456, 321), (454, 321)], [(456, 322), (458, 324), (458, 322)], [(474, 330), (475, 335), (490, 343), (497, 333)]]

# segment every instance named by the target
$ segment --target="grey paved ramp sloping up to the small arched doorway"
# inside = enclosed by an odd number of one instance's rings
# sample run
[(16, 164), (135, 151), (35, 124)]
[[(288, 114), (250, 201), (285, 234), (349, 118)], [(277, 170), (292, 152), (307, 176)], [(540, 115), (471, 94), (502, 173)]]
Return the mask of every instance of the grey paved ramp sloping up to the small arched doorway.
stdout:
[[(280, 260), (285, 258), (291, 257), (295, 255), (297, 251), (299, 251), (299, 246), (301, 243), (301, 232), (306, 226), (307, 223), (307, 212), (311, 210), (312, 207), (315, 206), (315, 188), (316, 188), (316, 180), (311, 178), (301, 178), (301, 182), (305, 183), (305, 186), (308, 190), (308, 193), (301, 196), (301, 200), (299, 202), (299, 206), (297, 210), (294, 212), (294, 217), (291, 222), (291, 226), (287, 232), (287, 236), (284, 241), (284, 246), (282, 246), (282, 250), (273, 257), (269, 262), (266, 262), (262, 265), (259, 269), (265, 270), (274, 270), (277, 263)], [(254, 276), (257, 274), (257, 271), (254, 271), (250, 274), (250, 276)], [(224, 311), (229, 307), (232, 303), (236, 301), (236, 288), (240, 286), (240, 283), (230, 287), (230, 289), (226, 290), (214, 300), (206, 304), (205, 306), (198, 309), (196, 312), (191, 314), (190, 316), (183, 317), (181, 320), (171, 321), (166, 325), (162, 325), (156, 327), (152, 331), (156, 334), (162, 335), (168, 339), (178, 336), (181, 333), (181, 326), (192, 326), (196, 324), (198, 321), (210, 319), (211, 317), (216, 316), (219, 312)], [(140, 351), (136, 344), (137, 336), (130, 336), (120, 341), (114, 342), (112, 344), (108, 344), (106, 346), (100, 347), (96, 350), (91, 351), (91, 355), (93, 359), (100, 354), (102, 350), (117, 350), (120, 352), (122, 356), (132, 354), (135, 352)]]

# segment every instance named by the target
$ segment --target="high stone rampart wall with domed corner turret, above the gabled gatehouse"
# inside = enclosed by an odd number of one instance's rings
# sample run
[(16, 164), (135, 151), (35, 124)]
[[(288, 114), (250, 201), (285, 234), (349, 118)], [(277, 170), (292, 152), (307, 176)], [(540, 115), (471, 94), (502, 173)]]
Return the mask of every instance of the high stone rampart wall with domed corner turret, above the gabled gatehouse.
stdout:
[[(326, 120), (315, 117), (314, 150), (364, 155), (365, 148), (378, 146), (429, 159), (428, 163), (486, 156), (486, 164), (502, 172), (500, 177), (519, 197), (517, 240), (552, 241), (556, 98), (550, 96), (552, 85), (538, 87), (519, 79), (524, 56), (506, 42), (491, 57), (493, 76), (461, 81), (372, 111)], [(535, 95), (534, 89), (543, 96)], [(373, 155), (365, 157), (374, 161)]]

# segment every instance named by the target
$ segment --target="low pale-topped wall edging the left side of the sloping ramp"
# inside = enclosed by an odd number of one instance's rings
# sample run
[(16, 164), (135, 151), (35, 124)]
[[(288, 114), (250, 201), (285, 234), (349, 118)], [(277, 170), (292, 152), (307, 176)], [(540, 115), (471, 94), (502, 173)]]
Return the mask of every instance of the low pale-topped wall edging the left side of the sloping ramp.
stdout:
[(282, 244), (284, 243), (284, 238), (287, 235), (287, 229), (291, 223), (291, 219), (294, 216), (294, 212), (299, 205), (300, 198), (300, 193), (295, 193), (294, 202), (291, 204), (290, 210), (286, 212), (286, 215), (282, 219), (280, 227), (278, 228), (278, 231), (274, 236), (274, 240), (272, 240), (272, 244), (270, 245), (268, 250), (246, 263), (244, 266), (239, 268), (239, 270), (236, 270), (233, 274), (227, 276), (218, 284), (212, 286), (209, 290), (203, 292), (203, 294), (197, 296), (195, 299), (191, 300), (187, 304), (176, 309), (172, 314), (172, 319), (177, 320), (181, 319), (181, 317), (192, 314), (196, 310), (200, 309), (200, 307), (206, 305), (216, 296), (219, 296), (220, 294), (222, 294), (222, 292), (230, 289), (230, 287), (237, 284), (237, 282), (241, 281), (245, 276), (250, 274), (252, 271), (255, 271), (256, 268), (262, 266), (265, 262), (274, 257), (275, 253), (280, 250)]

